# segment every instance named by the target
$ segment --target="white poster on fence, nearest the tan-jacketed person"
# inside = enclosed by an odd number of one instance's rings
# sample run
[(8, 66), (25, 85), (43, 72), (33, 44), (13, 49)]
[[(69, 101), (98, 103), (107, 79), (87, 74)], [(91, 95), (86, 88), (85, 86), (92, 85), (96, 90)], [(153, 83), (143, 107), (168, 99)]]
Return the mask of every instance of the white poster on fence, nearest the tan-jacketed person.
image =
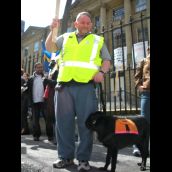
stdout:
[[(146, 52), (147, 47), (148, 47), (148, 41), (145, 41), (145, 52)], [(135, 56), (135, 65), (137, 68), (138, 65), (140, 64), (140, 61), (143, 60), (144, 58), (143, 42), (137, 42), (136, 44), (134, 44), (134, 56)], [(132, 58), (134, 58), (134, 56), (132, 52)], [(134, 68), (134, 59), (132, 61), (133, 61), (133, 68)]]

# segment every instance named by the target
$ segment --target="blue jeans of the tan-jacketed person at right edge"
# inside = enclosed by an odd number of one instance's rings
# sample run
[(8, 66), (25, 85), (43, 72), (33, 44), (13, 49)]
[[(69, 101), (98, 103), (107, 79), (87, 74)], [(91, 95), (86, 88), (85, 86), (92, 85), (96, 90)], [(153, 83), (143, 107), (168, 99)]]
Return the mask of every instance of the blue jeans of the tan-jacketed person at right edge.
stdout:
[(150, 124), (150, 92), (143, 91), (141, 97), (141, 115), (143, 115)]

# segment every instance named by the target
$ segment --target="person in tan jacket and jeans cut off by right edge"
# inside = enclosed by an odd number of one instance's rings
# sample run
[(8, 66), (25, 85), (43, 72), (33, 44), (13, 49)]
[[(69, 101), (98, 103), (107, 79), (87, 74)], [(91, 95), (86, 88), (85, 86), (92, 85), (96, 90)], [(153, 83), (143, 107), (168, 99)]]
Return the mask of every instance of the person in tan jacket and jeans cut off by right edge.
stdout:
[[(147, 56), (137, 68), (135, 74), (135, 87), (139, 90), (141, 98), (141, 115), (143, 115), (150, 124), (150, 48), (147, 48)], [(133, 155), (140, 156), (140, 151), (134, 145)]]

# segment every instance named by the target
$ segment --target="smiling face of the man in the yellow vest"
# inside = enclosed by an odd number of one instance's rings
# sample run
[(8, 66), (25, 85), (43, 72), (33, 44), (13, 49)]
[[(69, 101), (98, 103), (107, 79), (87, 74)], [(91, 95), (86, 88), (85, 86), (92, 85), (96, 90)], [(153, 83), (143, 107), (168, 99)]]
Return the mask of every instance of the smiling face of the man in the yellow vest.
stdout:
[(84, 35), (91, 31), (92, 23), (88, 16), (83, 15), (74, 22), (75, 28), (78, 29), (79, 34)]

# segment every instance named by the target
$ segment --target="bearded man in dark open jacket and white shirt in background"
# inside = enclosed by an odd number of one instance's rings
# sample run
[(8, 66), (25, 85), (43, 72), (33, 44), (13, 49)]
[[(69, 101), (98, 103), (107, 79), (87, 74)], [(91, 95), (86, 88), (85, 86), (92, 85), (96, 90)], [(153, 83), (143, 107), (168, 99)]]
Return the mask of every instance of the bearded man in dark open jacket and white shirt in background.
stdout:
[(45, 113), (44, 91), (46, 85), (47, 82), (43, 73), (43, 65), (42, 63), (37, 62), (35, 64), (35, 72), (28, 81), (30, 102), (32, 107), (32, 134), (34, 141), (39, 141), (39, 137), (41, 136), (41, 129), (39, 124), (40, 114), (42, 114), (45, 120), (46, 134), (48, 136), (48, 140), (53, 140), (53, 130), (51, 127), (52, 124), (49, 122), (47, 114)]

